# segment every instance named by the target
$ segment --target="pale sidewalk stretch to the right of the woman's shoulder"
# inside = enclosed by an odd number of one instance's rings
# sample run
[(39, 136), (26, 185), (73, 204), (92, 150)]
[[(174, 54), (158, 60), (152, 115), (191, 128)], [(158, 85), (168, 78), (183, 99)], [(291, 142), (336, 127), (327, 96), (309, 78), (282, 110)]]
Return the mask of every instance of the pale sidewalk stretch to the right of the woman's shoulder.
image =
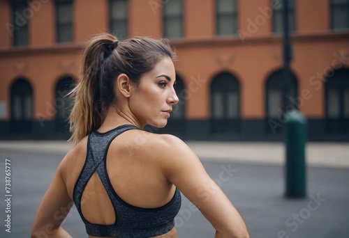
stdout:
[[(283, 143), (264, 142), (188, 142), (200, 159), (284, 164)], [(349, 168), (349, 143), (307, 143), (309, 166)]]

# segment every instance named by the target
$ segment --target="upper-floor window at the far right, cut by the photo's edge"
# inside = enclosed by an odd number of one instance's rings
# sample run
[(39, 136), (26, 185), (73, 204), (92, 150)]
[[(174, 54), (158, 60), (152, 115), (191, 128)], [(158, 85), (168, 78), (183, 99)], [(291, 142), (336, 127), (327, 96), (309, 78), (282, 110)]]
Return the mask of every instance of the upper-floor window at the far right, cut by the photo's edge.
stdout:
[(349, 31), (349, 0), (331, 0), (331, 27), (334, 31)]

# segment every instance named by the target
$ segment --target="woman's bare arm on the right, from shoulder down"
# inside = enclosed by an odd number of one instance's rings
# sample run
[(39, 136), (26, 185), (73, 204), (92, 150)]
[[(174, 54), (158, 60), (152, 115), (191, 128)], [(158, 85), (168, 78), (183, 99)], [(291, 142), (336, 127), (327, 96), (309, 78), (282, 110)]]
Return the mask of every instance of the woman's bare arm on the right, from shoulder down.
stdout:
[(164, 135), (164, 173), (216, 229), (216, 238), (248, 237), (246, 225), (220, 187), (207, 175), (195, 153), (183, 141)]

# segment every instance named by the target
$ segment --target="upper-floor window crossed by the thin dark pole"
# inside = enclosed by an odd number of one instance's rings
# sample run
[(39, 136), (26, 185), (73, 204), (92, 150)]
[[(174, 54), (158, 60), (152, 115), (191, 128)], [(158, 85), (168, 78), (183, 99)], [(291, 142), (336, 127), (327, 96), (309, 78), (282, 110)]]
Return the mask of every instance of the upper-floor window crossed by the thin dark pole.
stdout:
[[(283, 32), (283, 0), (271, 0), (273, 8), (273, 32)], [(288, 30), (295, 31), (295, 1), (288, 0)]]

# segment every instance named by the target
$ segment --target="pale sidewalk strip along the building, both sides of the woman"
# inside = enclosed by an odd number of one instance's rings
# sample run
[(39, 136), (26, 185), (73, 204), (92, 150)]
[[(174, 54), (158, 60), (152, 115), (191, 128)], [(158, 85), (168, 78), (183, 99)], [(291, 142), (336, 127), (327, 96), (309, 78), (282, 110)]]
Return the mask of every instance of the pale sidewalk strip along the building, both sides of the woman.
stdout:
[[(239, 161), (253, 164), (283, 164), (283, 143), (188, 141), (203, 161)], [(0, 141), (0, 150), (66, 153), (72, 148), (65, 141)], [(309, 166), (349, 168), (349, 143), (307, 143)]]

